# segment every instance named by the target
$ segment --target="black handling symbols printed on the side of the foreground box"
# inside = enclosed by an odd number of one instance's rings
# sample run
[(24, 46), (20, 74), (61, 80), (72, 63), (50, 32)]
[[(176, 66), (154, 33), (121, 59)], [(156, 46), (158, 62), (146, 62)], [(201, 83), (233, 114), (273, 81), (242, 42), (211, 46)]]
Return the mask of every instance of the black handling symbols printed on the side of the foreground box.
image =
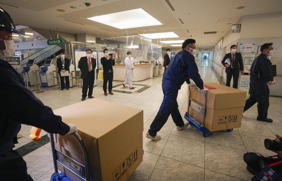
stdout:
[(138, 148), (136, 148), (130, 155), (123, 160), (123, 162), (113, 171), (113, 181), (118, 181), (127, 172), (128, 169), (138, 159)]

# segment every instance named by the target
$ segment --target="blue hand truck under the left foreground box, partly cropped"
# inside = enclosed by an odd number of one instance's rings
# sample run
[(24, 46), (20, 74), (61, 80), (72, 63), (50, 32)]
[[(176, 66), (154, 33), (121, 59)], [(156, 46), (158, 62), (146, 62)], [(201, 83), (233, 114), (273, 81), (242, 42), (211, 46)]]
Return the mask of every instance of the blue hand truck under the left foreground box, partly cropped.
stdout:
[(59, 174), (57, 162), (63, 165), (63, 167), (65, 167), (67, 170), (72, 172), (77, 177), (77, 180), (90, 181), (89, 166), (88, 166), (88, 153), (83, 143), (83, 140), (80, 138), (80, 136), (76, 132), (72, 133), (71, 135), (74, 136), (78, 140), (78, 143), (83, 151), (84, 165), (81, 165), (77, 161), (73, 160), (72, 158), (68, 157), (67, 155), (59, 151), (57, 148), (55, 148), (54, 136), (53, 134), (50, 133), (50, 143), (51, 143), (54, 169), (55, 169), (55, 172), (52, 174), (50, 181), (71, 181), (63, 173)]

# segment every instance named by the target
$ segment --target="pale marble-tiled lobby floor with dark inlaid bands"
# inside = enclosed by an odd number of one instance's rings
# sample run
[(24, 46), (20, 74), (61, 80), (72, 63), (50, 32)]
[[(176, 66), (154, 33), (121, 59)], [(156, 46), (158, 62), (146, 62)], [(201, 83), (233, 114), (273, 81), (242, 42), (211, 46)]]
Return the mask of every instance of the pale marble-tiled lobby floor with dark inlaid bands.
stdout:
[[(204, 82), (219, 83), (214, 72), (206, 63), (199, 66), (199, 73)], [(118, 85), (121, 82), (113, 82)], [(189, 126), (182, 131), (176, 131), (171, 116), (158, 133), (161, 140), (152, 141), (145, 137), (150, 124), (155, 118), (162, 103), (162, 78), (147, 79), (137, 82), (142, 86), (151, 87), (138, 93), (114, 92), (114, 95), (105, 96), (103, 88), (96, 86), (93, 96), (98, 99), (127, 105), (144, 110), (143, 134), (143, 162), (129, 178), (130, 181), (153, 180), (250, 180), (252, 175), (246, 170), (243, 155), (247, 151), (259, 152), (265, 155), (274, 153), (264, 148), (265, 138), (273, 139), (275, 134), (282, 135), (282, 99), (270, 98), (268, 110), (269, 118), (273, 123), (264, 123), (256, 120), (256, 105), (244, 113), (241, 128), (234, 129), (231, 133), (218, 131), (207, 138), (196, 128)], [(137, 90), (142, 86), (136, 86)], [(187, 110), (187, 84), (184, 83), (179, 90), (177, 101), (179, 110), (184, 116)], [(30, 88), (31, 90), (33, 88)], [(56, 88), (43, 88), (45, 92), (35, 95), (52, 109), (64, 107), (81, 101), (81, 88), (59, 90)], [(117, 86), (113, 90), (122, 90)], [(136, 90), (126, 90), (134, 92)], [(31, 126), (22, 125), (19, 144), (15, 149), (25, 148), (26, 144), (36, 147), (34, 151), (24, 156), (27, 162), (28, 173), (34, 180), (49, 181), (53, 173), (53, 161), (50, 143), (33, 143), (29, 139)], [(45, 131), (41, 136), (46, 135)], [(25, 149), (31, 149), (26, 147)]]

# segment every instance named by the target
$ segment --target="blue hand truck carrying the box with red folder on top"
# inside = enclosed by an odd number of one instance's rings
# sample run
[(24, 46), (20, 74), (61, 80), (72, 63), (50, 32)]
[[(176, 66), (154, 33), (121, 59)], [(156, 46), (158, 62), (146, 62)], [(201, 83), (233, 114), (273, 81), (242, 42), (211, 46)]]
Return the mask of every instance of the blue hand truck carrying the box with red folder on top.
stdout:
[[(204, 107), (195, 103), (194, 101), (190, 100), (191, 98), (191, 85), (189, 85), (189, 101), (188, 101), (188, 110), (184, 115), (184, 118), (189, 122), (190, 125), (194, 126), (195, 128), (197, 128), (197, 130), (202, 131), (202, 135), (204, 137), (207, 137), (209, 135), (209, 130), (204, 126), (205, 125), (205, 115), (206, 115), (206, 106), (207, 106), (207, 93), (206, 91), (204, 91), (204, 96), (205, 96), (205, 104)], [(198, 88), (197, 86), (193, 86), (195, 88)], [(199, 112), (200, 114), (203, 115), (202, 118), (202, 123), (200, 123), (199, 121), (197, 121), (196, 119), (194, 119), (191, 115), (189, 115), (189, 108), (192, 108), (194, 110), (196, 110), (197, 112)], [(227, 129), (227, 132), (231, 132), (233, 129)]]

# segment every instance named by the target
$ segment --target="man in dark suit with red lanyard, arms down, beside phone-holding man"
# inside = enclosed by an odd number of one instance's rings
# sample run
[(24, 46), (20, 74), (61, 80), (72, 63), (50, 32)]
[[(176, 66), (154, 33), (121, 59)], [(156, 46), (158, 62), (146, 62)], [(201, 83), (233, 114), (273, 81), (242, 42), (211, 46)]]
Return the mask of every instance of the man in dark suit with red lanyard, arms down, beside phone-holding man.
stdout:
[(95, 80), (95, 67), (96, 67), (96, 60), (92, 56), (92, 50), (86, 50), (86, 56), (81, 57), (78, 62), (78, 68), (81, 71), (81, 79), (83, 80), (82, 86), (82, 101), (85, 100), (88, 90), (88, 98), (94, 98), (92, 96), (93, 93), (93, 86)]

